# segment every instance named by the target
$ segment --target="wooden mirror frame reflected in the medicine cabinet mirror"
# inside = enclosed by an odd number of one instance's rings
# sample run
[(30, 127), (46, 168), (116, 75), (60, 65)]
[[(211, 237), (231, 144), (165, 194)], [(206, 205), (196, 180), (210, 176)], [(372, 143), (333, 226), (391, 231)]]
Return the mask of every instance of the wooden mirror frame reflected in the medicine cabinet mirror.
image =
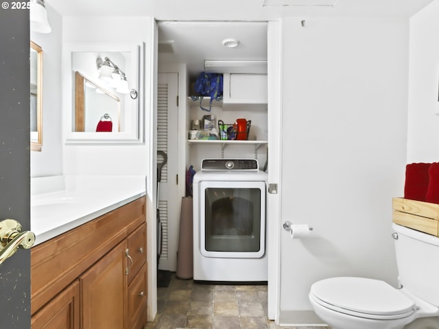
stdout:
[[(75, 72), (75, 132), (84, 132), (85, 127), (85, 117), (86, 117), (86, 110), (85, 110), (85, 90), (86, 86), (85, 84), (91, 84), (95, 88), (99, 89), (104, 93), (105, 95), (108, 95), (108, 97), (111, 97), (115, 101), (119, 102), (118, 104), (118, 115), (117, 122), (120, 122), (120, 99), (116, 95), (113, 95), (108, 90), (102, 88), (101, 86), (98, 86), (93, 81), (88, 80), (84, 75), (82, 75), (80, 72)], [(117, 127), (117, 131), (120, 132), (120, 126)]]

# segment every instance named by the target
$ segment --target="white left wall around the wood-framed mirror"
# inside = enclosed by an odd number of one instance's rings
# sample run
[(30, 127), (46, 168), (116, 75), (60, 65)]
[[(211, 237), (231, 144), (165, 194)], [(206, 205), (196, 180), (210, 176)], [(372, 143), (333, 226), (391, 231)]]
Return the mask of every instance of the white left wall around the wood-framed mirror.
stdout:
[(43, 48), (43, 148), (30, 152), (31, 177), (62, 174), (62, 17), (47, 3), (46, 9), (52, 32), (30, 33), (31, 40)]

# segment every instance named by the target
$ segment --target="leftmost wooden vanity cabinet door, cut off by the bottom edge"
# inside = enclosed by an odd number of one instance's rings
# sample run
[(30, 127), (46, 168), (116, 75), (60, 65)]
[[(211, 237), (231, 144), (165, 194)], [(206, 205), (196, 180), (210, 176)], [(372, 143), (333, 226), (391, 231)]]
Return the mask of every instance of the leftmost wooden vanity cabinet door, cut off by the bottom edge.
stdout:
[(80, 283), (75, 280), (31, 319), (32, 329), (80, 329)]

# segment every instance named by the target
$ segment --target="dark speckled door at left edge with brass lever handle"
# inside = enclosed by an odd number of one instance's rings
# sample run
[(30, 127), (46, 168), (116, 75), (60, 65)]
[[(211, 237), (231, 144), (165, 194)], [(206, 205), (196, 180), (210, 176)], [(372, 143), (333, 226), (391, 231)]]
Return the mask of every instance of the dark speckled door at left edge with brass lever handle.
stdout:
[[(29, 11), (0, 8), (0, 220), (30, 229)], [(0, 265), (0, 327), (30, 328), (30, 251)]]

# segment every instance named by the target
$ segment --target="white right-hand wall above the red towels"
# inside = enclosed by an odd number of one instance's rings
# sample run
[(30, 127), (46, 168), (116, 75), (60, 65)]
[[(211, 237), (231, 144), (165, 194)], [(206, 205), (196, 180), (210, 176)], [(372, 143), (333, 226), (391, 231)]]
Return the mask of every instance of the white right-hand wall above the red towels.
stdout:
[(407, 163), (439, 161), (438, 17), (436, 0), (410, 19)]

